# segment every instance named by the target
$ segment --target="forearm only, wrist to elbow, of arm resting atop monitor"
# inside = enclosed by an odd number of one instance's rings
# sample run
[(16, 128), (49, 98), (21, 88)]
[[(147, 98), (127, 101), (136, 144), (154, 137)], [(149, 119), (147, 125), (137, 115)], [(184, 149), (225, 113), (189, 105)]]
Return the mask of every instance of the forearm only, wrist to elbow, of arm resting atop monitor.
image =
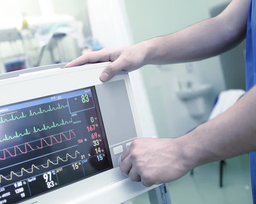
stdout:
[(174, 34), (148, 40), (146, 62), (184, 63), (219, 55), (243, 39), (230, 33), (217, 18), (201, 21)]

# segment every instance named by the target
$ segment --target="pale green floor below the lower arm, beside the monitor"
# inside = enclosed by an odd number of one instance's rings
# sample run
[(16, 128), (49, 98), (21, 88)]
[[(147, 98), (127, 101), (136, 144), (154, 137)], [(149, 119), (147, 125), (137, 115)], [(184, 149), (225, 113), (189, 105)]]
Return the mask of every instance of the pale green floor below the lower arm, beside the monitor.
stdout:
[[(219, 187), (219, 163), (198, 167), (194, 175), (185, 175), (169, 183), (172, 204), (252, 204), (249, 156), (242, 155), (226, 161), (223, 188)], [(144, 193), (133, 204), (149, 204)]]

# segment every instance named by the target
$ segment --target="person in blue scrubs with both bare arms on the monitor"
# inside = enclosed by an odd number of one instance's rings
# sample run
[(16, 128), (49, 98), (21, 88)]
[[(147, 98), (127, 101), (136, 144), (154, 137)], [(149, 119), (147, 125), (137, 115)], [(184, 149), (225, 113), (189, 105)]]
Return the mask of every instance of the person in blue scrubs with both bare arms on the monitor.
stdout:
[(176, 33), (133, 46), (91, 52), (67, 64), (66, 67), (72, 67), (112, 61), (100, 75), (106, 81), (120, 70), (130, 72), (147, 64), (185, 63), (213, 57), (236, 47), (245, 37), (247, 93), (226, 112), (182, 137), (135, 140), (122, 154), (120, 166), (131, 181), (141, 181), (147, 187), (163, 184), (200, 165), (250, 152), (256, 204), (256, 0), (232, 0), (218, 16)]

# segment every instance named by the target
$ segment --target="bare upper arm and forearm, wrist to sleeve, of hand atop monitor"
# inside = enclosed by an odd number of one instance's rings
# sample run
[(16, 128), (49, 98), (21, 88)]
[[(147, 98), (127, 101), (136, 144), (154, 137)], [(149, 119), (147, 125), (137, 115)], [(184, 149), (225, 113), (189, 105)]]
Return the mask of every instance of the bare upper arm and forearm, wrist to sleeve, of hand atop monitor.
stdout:
[(249, 4), (250, 0), (233, 0), (217, 17), (140, 43), (146, 47), (145, 64), (202, 60), (232, 49), (246, 36)]

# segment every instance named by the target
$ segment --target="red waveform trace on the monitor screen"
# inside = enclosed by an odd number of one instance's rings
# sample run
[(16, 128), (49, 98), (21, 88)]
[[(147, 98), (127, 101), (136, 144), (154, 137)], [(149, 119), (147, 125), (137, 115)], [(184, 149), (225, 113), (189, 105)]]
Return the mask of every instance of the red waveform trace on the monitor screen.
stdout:
[[(30, 151), (35, 150), (35, 149), (42, 149), (42, 148), (44, 147), (43, 142), (44, 142), (47, 146), (52, 146), (53, 144), (61, 143), (61, 142), (63, 141), (61, 136), (64, 136), (64, 138), (66, 138), (66, 140), (71, 140), (71, 133), (73, 133), (73, 135), (76, 136), (75, 133), (74, 133), (72, 130), (69, 131), (69, 137), (66, 137), (66, 135), (64, 134), (64, 132), (59, 133), (59, 134), (58, 134), (58, 135), (60, 136), (60, 140), (59, 140), (59, 141), (56, 139), (56, 137), (55, 137), (54, 135), (51, 135), (51, 136), (47, 137), (47, 138), (50, 138), (49, 144), (48, 144), (48, 142), (45, 140), (45, 138), (41, 138), (41, 139), (39, 139), (39, 140), (41, 141), (41, 147), (40, 147), (40, 146), (39, 146), (39, 147), (36, 146), (37, 148), (31, 147), (31, 145), (30, 145), (28, 142), (26, 142), (25, 144), (22, 144), (22, 145), (25, 146), (25, 151), (22, 151), (22, 150), (20, 149), (20, 147), (18, 147), (18, 146), (21, 146), (21, 145), (16, 145), (16, 146), (14, 146), (14, 147), (10, 147), (10, 148), (7, 148), (7, 149), (3, 149), (3, 150), (2, 150), (2, 151), (3, 151), (3, 158), (0, 158), (0, 160), (5, 160), (6, 158), (10, 158), (10, 157), (16, 157), (17, 155), (20, 155), (20, 154), (26, 154), (27, 152), (30, 152)], [(52, 138), (56, 141), (56, 143), (53, 143), (53, 142), (52, 142)], [(36, 140), (36, 141), (38, 141), (38, 140)], [(35, 142), (35, 141), (32, 141), (32, 142)], [(30, 143), (32, 143), (32, 142), (30, 142)], [(27, 147), (29, 147), (31, 150), (28, 151)], [(8, 149), (14, 149), (14, 154), (12, 154)], [(17, 149), (18, 149), (18, 151), (20, 152), (19, 154), (17, 154)], [(9, 156), (6, 156), (6, 153), (8, 153)]]

